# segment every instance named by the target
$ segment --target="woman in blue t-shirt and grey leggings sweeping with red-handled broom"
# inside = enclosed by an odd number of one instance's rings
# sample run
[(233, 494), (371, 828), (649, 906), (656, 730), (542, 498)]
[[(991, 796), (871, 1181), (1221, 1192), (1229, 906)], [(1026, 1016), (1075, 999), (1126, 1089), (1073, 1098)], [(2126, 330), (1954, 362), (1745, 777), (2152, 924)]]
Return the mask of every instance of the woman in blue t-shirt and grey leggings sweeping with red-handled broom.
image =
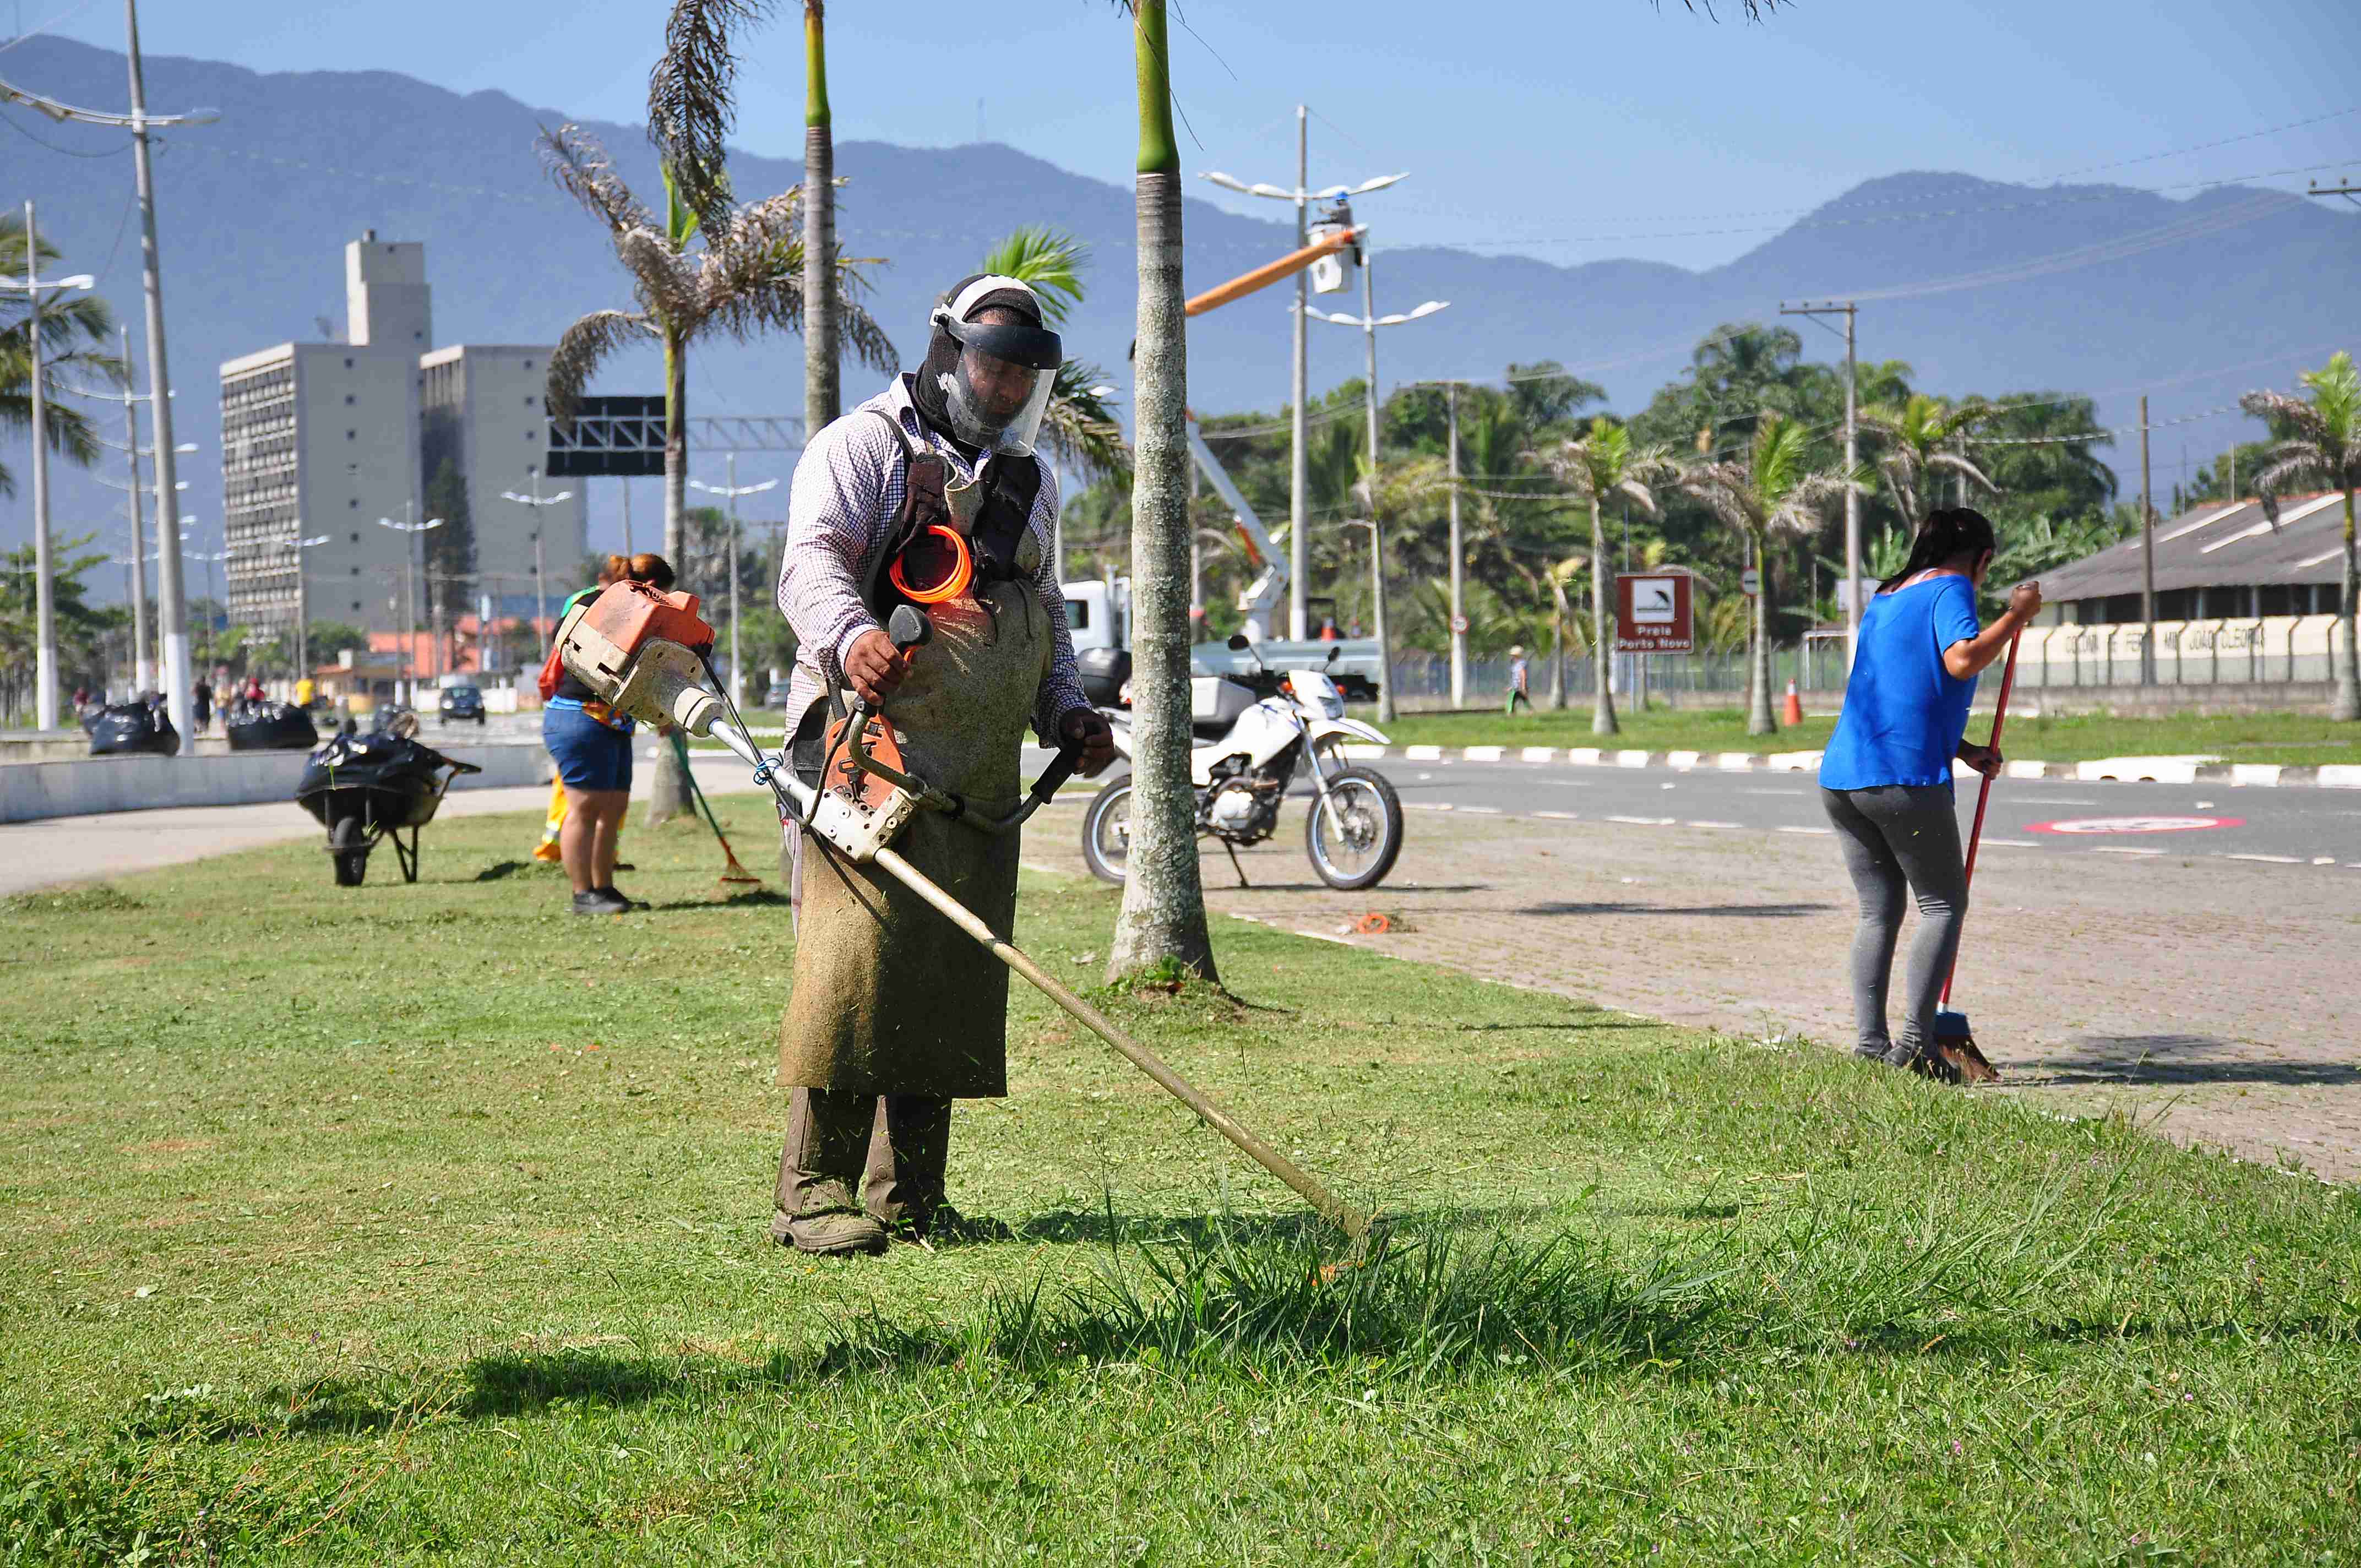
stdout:
[[(1858, 1056), (1912, 1065), (1934, 1039), (1934, 1011), (1960, 952), (1967, 871), (1950, 798), (1953, 758), (1995, 775), (2000, 753), (1962, 739), (1976, 675), (2042, 607), (2038, 583), (2021, 583), (1990, 626), (1976, 626), (1976, 588), (1993, 564), (1993, 522), (1971, 508), (1941, 508), (1919, 524), (1910, 564), (1877, 586), (1860, 614), (1844, 711), (1820, 756), (1820, 803), (1837, 827), (1844, 864), (1860, 895), (1853, 930), (1853, 1020)], [(1917, 895), (1903, 1037), (1886, 1034), (1886, 987), (1903, 895)]]

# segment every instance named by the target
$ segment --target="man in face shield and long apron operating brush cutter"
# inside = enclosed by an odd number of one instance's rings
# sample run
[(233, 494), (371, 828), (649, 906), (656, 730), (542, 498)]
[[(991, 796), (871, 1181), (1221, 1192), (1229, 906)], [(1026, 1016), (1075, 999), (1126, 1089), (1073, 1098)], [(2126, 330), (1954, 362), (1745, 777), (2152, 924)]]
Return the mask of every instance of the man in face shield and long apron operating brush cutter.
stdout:
[[(1096, 775), (1107, 723), (1074, 675), (1051, 555), (1058, 479), (1034, 456), (1062, 345), (1032, 288), (961, 279), (926, 361), (812, 435), (786, 512), (779, 609), (796, 631), (800, 763), (843, 763), (845, 690), (881, 708), (902, 765), (1003, 812), (1025, 727)], [(933, 635), (885, 623), (923, 607)], [(874, 744), (883, 746), (885, 741)], [(1018, 838), (918, 812), (900, 852), (994, 933), (1015, 916)], [(793, 1089), (772, 1235), (817, 1254), (923, 1240), (944, 1209), (951, 1100), (1008, 1091), (1008, 971), (876, 864), (789, 827), (796, 978), (779, 1027)]]

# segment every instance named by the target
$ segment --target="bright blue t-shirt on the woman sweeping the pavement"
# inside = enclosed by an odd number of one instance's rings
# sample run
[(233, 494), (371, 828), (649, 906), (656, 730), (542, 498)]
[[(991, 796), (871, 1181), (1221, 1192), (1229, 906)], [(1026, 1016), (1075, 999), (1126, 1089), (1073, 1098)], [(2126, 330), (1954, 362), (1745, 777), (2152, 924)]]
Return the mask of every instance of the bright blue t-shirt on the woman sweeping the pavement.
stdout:
[(1870, 597), (1820, 786), (1950, 784), (1976, 682), (1945, 671), (1943, 649), (1979, 631), (1976, 586), (1957, 574)]

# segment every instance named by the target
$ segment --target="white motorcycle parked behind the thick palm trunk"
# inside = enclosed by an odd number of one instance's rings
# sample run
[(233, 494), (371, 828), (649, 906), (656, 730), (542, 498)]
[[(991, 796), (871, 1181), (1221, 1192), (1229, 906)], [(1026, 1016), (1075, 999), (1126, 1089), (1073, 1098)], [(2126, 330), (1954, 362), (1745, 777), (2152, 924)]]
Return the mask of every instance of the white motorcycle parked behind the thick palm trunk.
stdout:
[[(1232, 649), (1249, 647), (1230, 638)], [(1329, 649), (1329, 659), (1336, 649)], [(1327, 671), (1258, 675), (1275, 697), (1221, 675), (1190, 680), (1190, 777), (1197, 784), (1197, 834), (1221, 841), (1240, 886), (1237, 845), (1261, 843), (1280, 827), (1280, 803), (1299, 772), (1310, 772), (1313, 805), (1303, 822), (1303, 852), (1332, 888), (1358, 890), (1386, 881), (1402, 852), (1402, 803), (1374, 767), (1343, 760), (1343, 746), (1386, 737), (1343, 716), (1343, 694)], [(1131, 758), (1131, 716), (1100, 708), (1114, 725), (1114, 749)], [(1081, 817), (1081, 857), (1100, 881), (1124, 881), (1131, 855), (1131, 777), (1098, 791)]]

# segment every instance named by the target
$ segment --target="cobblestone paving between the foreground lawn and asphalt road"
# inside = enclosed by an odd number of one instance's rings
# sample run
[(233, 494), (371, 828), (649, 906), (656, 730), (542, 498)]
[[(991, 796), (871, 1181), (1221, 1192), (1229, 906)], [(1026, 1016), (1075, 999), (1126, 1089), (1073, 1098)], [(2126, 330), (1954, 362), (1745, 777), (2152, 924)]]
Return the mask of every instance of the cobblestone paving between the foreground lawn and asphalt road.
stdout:
[[(1070, 812), (1025, 855), (1086, 876)], [(1695, 1027), (1851, 1039), (1853, 893), (1825, 838), (1421, 812), (1372, 893), (1320, 886), (1287, 831), (1240, 860), (1256, 886), (1204, 860), (1214, 909), (1325, 937), (1379, 909), (1407, 930), (1348, 940)], [(1955, 1004), (2002, 1070), (1976, 1093), (2361, 1176), (2361, 878), (2290, 902), (2264, 867), (1993, 848)]]

